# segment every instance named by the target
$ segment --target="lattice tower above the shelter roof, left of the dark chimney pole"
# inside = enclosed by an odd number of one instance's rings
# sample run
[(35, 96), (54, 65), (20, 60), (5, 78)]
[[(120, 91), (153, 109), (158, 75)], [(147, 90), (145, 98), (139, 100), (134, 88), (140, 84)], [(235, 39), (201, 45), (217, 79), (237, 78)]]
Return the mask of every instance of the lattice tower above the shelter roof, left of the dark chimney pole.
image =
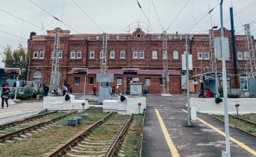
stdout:
[(209, 45), (210, 45), (210, 68), (211, 68), (211, 71), (217, 71), (216, 58), (215, 58), (215, 52), (214, 52), (213, 29), (209, 30)]

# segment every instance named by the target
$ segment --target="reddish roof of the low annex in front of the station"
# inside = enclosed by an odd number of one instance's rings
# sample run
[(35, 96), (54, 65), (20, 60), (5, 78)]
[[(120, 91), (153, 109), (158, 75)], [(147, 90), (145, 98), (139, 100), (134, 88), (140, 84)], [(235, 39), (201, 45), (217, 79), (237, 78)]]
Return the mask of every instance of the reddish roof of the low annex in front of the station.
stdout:
[[(67, 74), (73, 74), (72, 70)], [(99, 69), (89, 69), (88, 74), (101, 74)], [(107, 74), (123, 74), (122, 69), (107, 69)], [(138, 75), (162, 75), (163, 70), (143, 70), (139, 69)], [(180, 76), (181, 73), (178, 70), (168, 70), (170, 76)]]

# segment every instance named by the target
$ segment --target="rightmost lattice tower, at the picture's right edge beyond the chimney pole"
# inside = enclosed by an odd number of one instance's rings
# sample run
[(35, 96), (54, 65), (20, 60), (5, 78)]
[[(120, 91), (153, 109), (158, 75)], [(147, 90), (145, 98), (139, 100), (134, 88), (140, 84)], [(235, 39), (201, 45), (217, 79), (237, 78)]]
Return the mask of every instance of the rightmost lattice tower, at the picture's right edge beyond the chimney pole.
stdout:
[(244, 25), (245, 27), (245, 35), (246, 35), (246, 48), (248, 50), (248, 60), (247, 60), (247, 74), (248, 78), (255, 78), (255, 70), (256, 70), (256, 64), (255, 64), (255, 50), (252, 44), (252, 36), (251, 36), (251, 28), (249, 24)]

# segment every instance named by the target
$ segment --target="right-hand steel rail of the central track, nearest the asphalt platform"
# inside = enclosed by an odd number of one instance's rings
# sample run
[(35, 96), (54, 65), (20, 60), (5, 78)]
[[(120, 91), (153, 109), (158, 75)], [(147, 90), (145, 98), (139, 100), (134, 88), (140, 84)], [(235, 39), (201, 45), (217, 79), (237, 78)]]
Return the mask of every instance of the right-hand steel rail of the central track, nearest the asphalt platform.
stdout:
[(119, 132), (119, 135), (117, 135), (115, 141), (113, 141), (113, 144), (111, 145), (110, 149), (107, 150), (107, 153), (105, 156), (109, 157), (109, 156), (115, 155), (119, 145), (122, 143), (123, 139), (125, 138), (125, 133), (127, 132), (133, 119), (134, 119), (134, 115), (131, 114), (130, 118), (128, 118), (125, 125), (122, 127), (122, 130)]

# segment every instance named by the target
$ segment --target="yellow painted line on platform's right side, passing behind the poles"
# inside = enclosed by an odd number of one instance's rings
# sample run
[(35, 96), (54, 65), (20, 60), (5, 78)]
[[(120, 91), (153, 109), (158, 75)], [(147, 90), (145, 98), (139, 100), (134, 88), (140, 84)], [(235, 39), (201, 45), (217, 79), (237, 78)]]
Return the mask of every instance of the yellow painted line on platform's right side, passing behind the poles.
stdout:
[[(187, 111), (184, 110), (184, 109), (182, 109), (182, 111), (184, 111), (184, 112), (187, 113)], [(210, 125), (210, 124), (207, 124), (207, 122), (204, 121), (204, 120), (202, 120), (201, 118), (197, 118), (197, 119), (198, 119), (199, 121), (201, 121), (203, 124), (209, 126), (211, 129), (214, 129), (216, 132), (219, 132), (220, 135), (225, 136), (225, 133), (222, 132), (222, 131), (220, 131), (220, 130), (217, 129), (216, 127), (214, 127), (214, 126), (212, 126), (212, 125)], [(243, 144), (242, 142), (237, 141), (237, 140), (234, 139), (234, 138), (231, 138), (231, 136), (229, 136), (229, 139), (230, 139), (231, 141), (233, 141), (234, 143), (240, 145), (240, 147), (242, 147), (243, 149), (247, 150), (249, 153), (252, 153), (252, 155), (256, 156), (256, 151), (255, 151), (255, 150), (252, 150), (252, 148), (246, 146), (246, 144)]]

